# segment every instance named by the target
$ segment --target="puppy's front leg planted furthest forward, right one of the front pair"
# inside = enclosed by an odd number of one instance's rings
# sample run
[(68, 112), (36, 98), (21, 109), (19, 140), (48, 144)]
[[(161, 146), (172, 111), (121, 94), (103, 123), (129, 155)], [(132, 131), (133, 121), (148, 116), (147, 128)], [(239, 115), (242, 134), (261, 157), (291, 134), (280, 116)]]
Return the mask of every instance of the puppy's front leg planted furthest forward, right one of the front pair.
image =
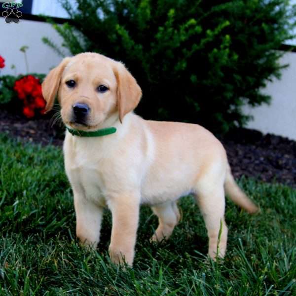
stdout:
[(140, 200), (137, 194), (112, 196), (108, 201), (112, 213), (112, 231), (109, 253), (111, 260), (133, 265), (139, 222)]

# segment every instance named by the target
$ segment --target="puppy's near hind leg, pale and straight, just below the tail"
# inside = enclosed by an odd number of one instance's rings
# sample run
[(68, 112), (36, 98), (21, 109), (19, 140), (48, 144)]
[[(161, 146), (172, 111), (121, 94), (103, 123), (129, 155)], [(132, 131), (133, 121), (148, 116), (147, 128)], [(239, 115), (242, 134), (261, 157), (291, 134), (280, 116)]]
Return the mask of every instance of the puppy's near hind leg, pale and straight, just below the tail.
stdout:
[[(227, 226), (224, 221), (225, 196), (223, 184), (217, 184), (215, 186), (209, 184), (208, 182), (199, 184), (195, 190), (195, 197), (208, 231), (208, 255), (215, 260), (217, 253), (219, 257), (223, 258), (226, 252)], [(221, 226), (222, 232), (218, 246)]]

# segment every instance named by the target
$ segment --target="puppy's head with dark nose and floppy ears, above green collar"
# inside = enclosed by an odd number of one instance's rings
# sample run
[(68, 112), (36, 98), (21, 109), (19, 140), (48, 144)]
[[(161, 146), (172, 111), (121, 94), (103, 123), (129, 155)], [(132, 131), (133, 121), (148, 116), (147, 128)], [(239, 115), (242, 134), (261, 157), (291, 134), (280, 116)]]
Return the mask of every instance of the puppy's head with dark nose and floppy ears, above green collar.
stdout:
[(79, 130), (95, 130), (111, 115), (120, 122), (134, 110), (142, 91), (124, 65), (97, 53), (65, 58), (42, 83), (42, 94), (52, 109), (56, 95), (64, 123)]

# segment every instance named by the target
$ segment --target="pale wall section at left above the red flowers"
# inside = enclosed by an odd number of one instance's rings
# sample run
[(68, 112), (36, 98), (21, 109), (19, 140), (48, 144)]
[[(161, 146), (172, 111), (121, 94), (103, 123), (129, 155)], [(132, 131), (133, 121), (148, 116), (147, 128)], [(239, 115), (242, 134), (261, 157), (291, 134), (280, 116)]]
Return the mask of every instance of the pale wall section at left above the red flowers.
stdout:
[[(19, 49), (27, 45), (29, 72), (47, 74), (49, 69), (58, 65), (62, 57), (58, 56), (41, 38), (49, 37), (55, 44), (61, 45), (62, 38), (51, 27), (43, 22), (22, 20), (18, 24), (6, 24), (0, 17), (0, 55), (5, 59), (5, 68), (1, 74), (15, 74), (11, 65), (15, 65), (16, 74), (26, 74), (24, 53)], [(68, 54), (67, 50), (64, 50)]]

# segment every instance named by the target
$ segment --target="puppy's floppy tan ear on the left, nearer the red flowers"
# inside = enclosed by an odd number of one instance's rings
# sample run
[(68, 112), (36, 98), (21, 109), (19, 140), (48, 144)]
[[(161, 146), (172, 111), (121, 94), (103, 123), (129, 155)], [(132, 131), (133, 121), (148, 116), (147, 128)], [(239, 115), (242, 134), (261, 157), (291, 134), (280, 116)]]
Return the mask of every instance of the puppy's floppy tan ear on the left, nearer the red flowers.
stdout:
[(53, 68), (42, 82), (42, 95), (46, 101), (45, 111), (52, 109), (55, 97), (60, 87), (61, 76), (70, 58), (65, 58), (59, 66)]

